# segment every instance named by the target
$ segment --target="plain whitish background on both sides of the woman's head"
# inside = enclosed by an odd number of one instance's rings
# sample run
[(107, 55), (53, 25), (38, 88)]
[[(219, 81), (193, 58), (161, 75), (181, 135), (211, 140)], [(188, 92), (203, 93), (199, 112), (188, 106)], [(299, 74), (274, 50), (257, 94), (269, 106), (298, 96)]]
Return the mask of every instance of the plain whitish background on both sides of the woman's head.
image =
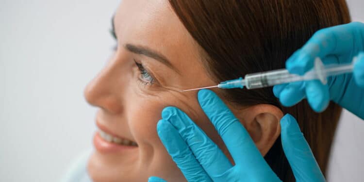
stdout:
[[(92, 148), (84, 86), (111, 54), (119, 0), (1, 0), (0, 181), (57, 181)], [(348, 0), (364, 21), (362, 0)], [(363, 181), (364, 122), (345, 112), (328, 180)]]

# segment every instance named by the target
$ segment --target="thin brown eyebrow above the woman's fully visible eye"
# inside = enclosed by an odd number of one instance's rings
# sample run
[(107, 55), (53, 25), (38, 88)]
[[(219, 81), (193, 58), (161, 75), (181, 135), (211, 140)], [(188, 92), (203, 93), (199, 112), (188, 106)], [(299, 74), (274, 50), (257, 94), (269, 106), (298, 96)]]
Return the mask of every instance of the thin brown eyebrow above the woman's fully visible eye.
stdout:
[(153, 58), (153, 59), (161, 62), (165, 66), (168, 66), (169, 68), (175, 70), (177, 73), (179, 73), (179, 71), (176, 69), (176, 67), (174, 67), (171, 64), (171, 62), (163, 54), (159, 53), (156, 50), (151, 50), (148, 47), (136, 46), (136, 45), (132, 45), (132, 44), (126, 44), (125, 49), (127, 49), (135, 54), (142, 54), (142, 55), (148, 56), (150, 58)]

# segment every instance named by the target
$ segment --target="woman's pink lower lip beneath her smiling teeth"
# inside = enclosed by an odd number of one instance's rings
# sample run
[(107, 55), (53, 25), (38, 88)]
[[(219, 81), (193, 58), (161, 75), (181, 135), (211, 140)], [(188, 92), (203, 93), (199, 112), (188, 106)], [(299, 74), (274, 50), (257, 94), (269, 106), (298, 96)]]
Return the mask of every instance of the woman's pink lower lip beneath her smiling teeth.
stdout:
[(106, 141), (100, 136), (100, 132), (95, 133), (94, 146), (98, 151), (103, 153), (122, 152), (138, 148), (137, 146), (116, 144), (112, 141)]

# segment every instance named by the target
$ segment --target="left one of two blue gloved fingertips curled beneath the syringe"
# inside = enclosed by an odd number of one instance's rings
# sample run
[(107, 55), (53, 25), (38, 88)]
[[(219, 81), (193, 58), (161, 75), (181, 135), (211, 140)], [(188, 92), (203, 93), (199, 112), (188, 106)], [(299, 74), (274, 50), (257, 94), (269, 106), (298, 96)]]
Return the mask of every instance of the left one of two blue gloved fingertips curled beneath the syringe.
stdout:
[(283, 106), (290, 107), (297, 104), (305, 97), (305, 82), (293, 82), (287, 84), (287, 86), (282, 89), (278, 98)]

